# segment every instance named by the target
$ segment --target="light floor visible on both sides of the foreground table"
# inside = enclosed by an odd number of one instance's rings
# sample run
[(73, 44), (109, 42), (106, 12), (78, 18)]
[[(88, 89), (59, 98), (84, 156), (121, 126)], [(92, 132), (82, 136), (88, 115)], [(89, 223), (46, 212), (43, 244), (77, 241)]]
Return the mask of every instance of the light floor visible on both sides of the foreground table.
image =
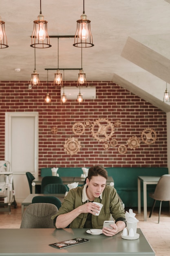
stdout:
[[(128, 209), (126, 209), (128, 211)], [(163, 210), (161, 218), (158, 222), (158, 210), (154, 211), (151, 218), (147, 218), (144, 222), (143, 212), (137, 213), (137, 209), (133, 209), (136, 218), (139, 220), (137, 227), (141, 228), (156, 256), (170, 256), (170, 212)], [(149, 216), (149, 211), (148, 211)], [(21, 206), (17, 209), (11, 207), (11, 214), (0, 212), (0, 228), (20, 228), (21, 222)]]

